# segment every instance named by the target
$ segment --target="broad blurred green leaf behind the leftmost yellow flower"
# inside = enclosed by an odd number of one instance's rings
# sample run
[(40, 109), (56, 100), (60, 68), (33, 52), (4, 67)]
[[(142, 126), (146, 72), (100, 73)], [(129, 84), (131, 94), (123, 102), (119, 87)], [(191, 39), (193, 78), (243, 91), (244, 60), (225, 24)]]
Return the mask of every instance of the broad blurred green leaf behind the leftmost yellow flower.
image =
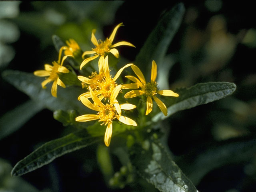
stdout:
[(89, 111), (77, 100), (78, 96), (84, 92), (78, 86), (67, 88), (58, 86), (57, 98), (55, 98), (51, 94), (52, 82), (46, 85), (46, 89), (43, 89), (41, 83), (44, 78), (34, 76), (32, 73), (7, 70), (3, 72), (2, 76), (18, 90), (30, 96), (37, 104), (43, 105), (52, 111), (75, 109), (80, 114), (85, 114)]

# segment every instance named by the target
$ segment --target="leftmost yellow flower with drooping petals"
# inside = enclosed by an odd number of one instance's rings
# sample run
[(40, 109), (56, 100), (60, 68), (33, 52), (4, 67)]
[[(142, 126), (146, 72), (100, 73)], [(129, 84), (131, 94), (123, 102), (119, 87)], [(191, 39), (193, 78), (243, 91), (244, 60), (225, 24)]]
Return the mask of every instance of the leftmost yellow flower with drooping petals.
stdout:
[(42, 88), (46, 88), (46, 84), (53, 81), (51, 93), (52, 93), (52, 96), (54, 97), (57, 97), (57, 85), (62, 86), (63, 88), (66, 88), (65, 84), (60, 80), (58, 74), (69, 72), (69, 70), (66, 67), (62, 66), (64, 60), (67, 57), (68, 55), (62, 58), (61, 64), (60, 64), (60, 58), (59, 58), (58, 62), (56, 61), (52, 62), (53, 66), (49, 64), (45, 64), (44, 65), (45, 70), (37, 70), (34, 72), (34, 75), (39, 77), (49, 76), (46, 80), (42, 82)]

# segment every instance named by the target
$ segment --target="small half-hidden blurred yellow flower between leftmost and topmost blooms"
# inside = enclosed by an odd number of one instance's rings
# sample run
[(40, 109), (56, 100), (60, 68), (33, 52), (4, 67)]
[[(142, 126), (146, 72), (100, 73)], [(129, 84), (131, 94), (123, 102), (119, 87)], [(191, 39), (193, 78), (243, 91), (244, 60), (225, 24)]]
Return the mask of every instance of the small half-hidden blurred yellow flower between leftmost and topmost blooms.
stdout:
[(82, 50), (74, 39), (66, 40), (68, 46), (62, 46), (60, 48), (60, 54), (64, 50), (64, 55), (72, 55), (74, 57), (82, 54)]

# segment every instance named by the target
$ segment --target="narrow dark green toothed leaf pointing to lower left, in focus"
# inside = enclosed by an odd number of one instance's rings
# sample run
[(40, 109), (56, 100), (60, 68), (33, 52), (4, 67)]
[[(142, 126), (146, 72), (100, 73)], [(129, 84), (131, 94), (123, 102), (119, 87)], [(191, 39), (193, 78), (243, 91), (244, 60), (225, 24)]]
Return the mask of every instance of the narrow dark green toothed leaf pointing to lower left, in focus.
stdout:
[(103, 139), (103, 136), (93, 137), (88, 134), (86, 129), (82, 129), (62, 138), (52, 140), (20, 160), (12, 169), (11, 175), (21, 176), (52, 162), (57, 157), (84, 148)]

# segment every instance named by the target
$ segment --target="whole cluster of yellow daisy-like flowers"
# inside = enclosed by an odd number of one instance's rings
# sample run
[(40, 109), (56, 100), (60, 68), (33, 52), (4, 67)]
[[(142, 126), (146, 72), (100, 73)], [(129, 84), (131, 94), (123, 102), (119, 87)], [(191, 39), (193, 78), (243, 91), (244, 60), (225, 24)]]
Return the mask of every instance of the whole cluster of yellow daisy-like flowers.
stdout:
[[(87, 122), (92, 120), (98, 120), (99, 122), (101, 122), (101, 125), (106, 126), (106, 132), (104, 136), (104, 142), (106, 146), (110, 145), (113, 121), (120, 121), (121, 123), (124, 123), (126, 125), (137, 126), (137, 123), (134, 120), (122, 115), (122, 113), (126, 113), (126, 110), (133, 110), (136, 108), (136, 105), (128, 103), (125, 99), (144, 95), (146, 96), (144, 97), (146, 98), (146, 115), (152, 112), (154, 100), (160, 110), (163, 112), (163, 114), (167, 116), (167, 108), (165, 104), (157, 97), (157, 94), (163, 96), (179, 96), (171, 90), (158, 90), (156, 82), (157, 66), (154, 60), (152, 61), (150, 82), (146, 82), (141, 70), (138, 68), (138, 66), (132, 63), (126, 64), (119, 70), (116, 70), (117, 72), (115, 75), (113, 74), (113, 72), (110, 72), (111, 70), (109, 68), (109, 54), (113, 54), (115, 58), (119, 58), (119, 52), (116, 47), (121, 45), (135, 47), (133, 44), (126, 41), (112, 44), (116, 32), (118, 28), (120, 28), (120, 26), (123, 26), (123, 24), (118, 24), (114, 28), (110, 37), (106, 38), (106, 40), (104, 41), (97, 40), (94, 35), (96, 30), (92, 30), (91, 41), (95, 47), (89, 51), (82, 52), (80, 46), (73, 39), (66, 41), (67, 45), (60, 48), (58, 62), (53, 62), (53, 66), (45, 64), (45, 70), (38, 70), (34, 72), (36, 76), (49, 76), (46, 80), (42, 82), (42, 87), (45, 88), (46, 84), (53, 81), (52, 96), (57, 97), (57, 85), (66, 88), (65, 84), (61, 80), (62, 76), (67, 76), (71, 73), (68, 68), (63, 66), (64, 60), (66, 60), (68, 56), (73, 57), (75, 60), (77, 59), (78, 61), (82, 59), (82, 62), (80, 62), (80, 73), (82, 73), (82, 68), (86, 64), (90, 65), (92, 60), (99, 58), (98, 69), (96, 69), (96, 71), (91, 71), (91, 75), (77, 76), (76, 74), (78, 80), (81, 81), (82, 88), (85, 88), (87, 90), (86, 92), (78, 96), (78, 100), (80, 100), (82, 104), (84, 104), (84, 106), (96, 111), (96, 114), (84, 114), (78, 116), (76, 117), (76, 121)], [(64, 56), (61, 60), (63, 52)], [(88, 55), (92, 54), (93, 56), (88, 57)], [(90, 65), (90, 67), (94, 68), (92, 64)], [(138, 78), (132, 75), (128, 75), (125, 77), (128, 80), (132, 81), (132, 83), (120, 84), (118, 78), (120, 77), (122, 72), (129, 67), (131, 67), (132, 71), (136, 74)], [(124, 94), (124, 90), (126, 89), (131, 90), (128, 92), (126, 91), (126, 94)]]

